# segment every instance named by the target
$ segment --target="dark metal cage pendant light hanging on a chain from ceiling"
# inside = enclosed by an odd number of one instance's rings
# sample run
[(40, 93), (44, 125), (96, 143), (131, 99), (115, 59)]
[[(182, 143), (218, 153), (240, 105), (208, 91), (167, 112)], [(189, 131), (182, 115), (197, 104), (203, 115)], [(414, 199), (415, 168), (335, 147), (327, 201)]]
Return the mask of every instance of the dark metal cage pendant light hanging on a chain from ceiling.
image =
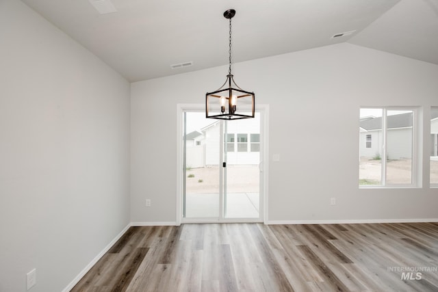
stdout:
[(230, 21), (229, 31), (229, 70), (225, 83), (214, 92), (205, 94), (205, 117), (220, 120), (238, 120), (254, 118), (255, 94), (242, 90), (234, 81), (231, 74), (231, 18), (235, 10), (224, 12), (224, 17)]

